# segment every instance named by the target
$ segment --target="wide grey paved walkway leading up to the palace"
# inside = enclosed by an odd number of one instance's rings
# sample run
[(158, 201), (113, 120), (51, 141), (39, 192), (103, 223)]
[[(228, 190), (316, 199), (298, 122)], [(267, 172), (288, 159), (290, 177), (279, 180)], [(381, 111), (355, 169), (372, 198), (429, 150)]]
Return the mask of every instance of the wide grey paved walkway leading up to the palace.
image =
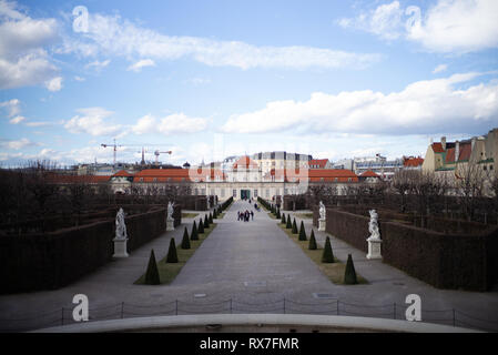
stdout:
[[(204, 304), (205, 306), (196, 308), (200, 313), (210, 310), (220, 312), (220, 310), (207, 307), (207, 304), (221, 304), (227, 300), (236, 300), (246, 305), (258, 304), (254, 312), (271, 313), (276, 310), (282, 312), (282, 304), (276, 303), (284, 297), (302, 303), (303, 312), (318, 313), (321, 308), (306, 308), (305, 304), (331, 301), (316, 298), (317, 294), (322, 294), (339, 298), (345, 303), (387, 305), (388, 308), (385, 311), (387, 313), (393, 312), (390, 305), (396, 303), (397, 317), (404, 317), (406, 295), (415, 293), (423, 300), (423, 311), (449, 310), (451, 312), (453, 308), (457, 308), (478, 318), (498, 322), (497, 291), (476, 293), (437, 290), (380, 261), (367, 261), (365, 253), (332, 236), (335, 255), (345, 261), (347, 254), (352, 253), (356, 271), (369, 281), (366, 285), (335, 285), (277, 226), (278, 221), (271, 219), (263, 210), (255, 212), (254, 221), (238, 222), (236, 212), (246, 209), (251, 210), (247, 202), (234, 202), (226, 211), (224, 219), (215, 221), (216, 229), (171, 285), (133, 285), (133, 282), (145, 271), (151, 248), (154, 248), (157, 260), (162, 258), (167, 252), (171, 237), (174, 237), (179, 245), (184, 227), (187, 226), (191, 231), (194, 219), (184, 219), (182, 225), (175, 231), (164, 233), (143, 245), (131, 253), (130, 257), (113, 261), (67, 287), (0, 296), (0, 320), (55, 312), (52, 315), (54, 320), (52, 325), (57, 325), (61, 313), (57, 310), (67, 307), (65, 316), (70, 318), (69, 310), (74, 307), (71, 303), (72, 297), (78, 293), (89, 296), (91, 310), (119, 305), (122, 302), (125, 303), (126, 308), (132, 305), (154, 307), (180, 300), (192, 304)], [(195, 220), (199, 221), (201, 216), (204, 216), (204, 212), (199, 212)], [(296, 221), (301, 224), (298, 216)], [(309, 235), (312, 221), (307, 219), (303, 221)], [(326, 234), (315, 230), (315, 236), (318, 244), (323, 245)], [(262, 307), (261, 304), (266, 304), (267, 307)], [(272, 308), (272, 305), (276, 305), (276, 308)], [(297, 304), (295, 306), (297, 307)], [(145, 313), (140, 313), (140, 307), (129, 310), (125, 316), (151, 315), (153, 312), (143, 308)], [(119, 308), (111, 307), (109, 312), (111, 317), (115, 317)], [(175, 312), (181, 313), (177, 302)], [(347, 315), (347, 313), (342, 314)], [(448, 316), (450, 314), (444, 314), (445, 318)], [(42, 323), (33, 322), (31, 327), (39, 324)], [(42, 325), (47, 326), (44, 323)], [(6, 324), (0, 322), (0, 326), (4, 327)], [(12, 328), (20, 328), (20, 326), (13, 322)]]

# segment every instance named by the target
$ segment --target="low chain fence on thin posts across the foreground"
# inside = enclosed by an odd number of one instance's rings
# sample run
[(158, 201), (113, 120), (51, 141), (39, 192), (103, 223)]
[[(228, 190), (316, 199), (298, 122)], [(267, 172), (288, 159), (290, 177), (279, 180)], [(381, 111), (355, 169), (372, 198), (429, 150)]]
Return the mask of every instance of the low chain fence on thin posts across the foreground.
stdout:
[[(62, 307), (51, 312), (27, 314), (17, 318), (1, 317), (0, 332), (26, 332), (72, 324), (75, 323), (72, 317), (72, 312), (73, 307)], [(282, 298), (265, 303), (247, 303), (230, 298), (213, 303), (192, 303), (175, 300), (154, 305), (139, 305), (121, 302), (93, 308), (89, 307), (89, 322), (164, 315), (246, 313), (342, 315), (405, 320), (405, 307), (399, 306), (396, 303), (384, 305), (364, 305), (347, 303), (339, 300), (303, 303), (289, 298)], [(497, 321), (482, 320), (455, 308), (434, 311), (423, 310), (421, 321), (425, 323), (461, 326), (486, 332), (498, 332)]]

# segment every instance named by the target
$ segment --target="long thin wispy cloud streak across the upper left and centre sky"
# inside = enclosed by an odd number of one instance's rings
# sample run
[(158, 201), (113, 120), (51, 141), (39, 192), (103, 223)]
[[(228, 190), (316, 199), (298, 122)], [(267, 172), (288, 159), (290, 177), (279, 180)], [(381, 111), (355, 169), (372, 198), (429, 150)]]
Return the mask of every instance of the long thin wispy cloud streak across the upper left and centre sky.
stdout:
[(313, 47), (257, 47), (240, 41), (171, 37), (138, 27), (119, 16), (93, 13), (90, 13), (89, 32), (84, 33), (83, 38), (80, 36), (65, 39), (61, 51), (78, 52), (81, 55), (104, 54), (149, 60), (189, 58), (211, 67), (235, 67), (244, 70), (365, 68), (380, 59), (379, 54)]

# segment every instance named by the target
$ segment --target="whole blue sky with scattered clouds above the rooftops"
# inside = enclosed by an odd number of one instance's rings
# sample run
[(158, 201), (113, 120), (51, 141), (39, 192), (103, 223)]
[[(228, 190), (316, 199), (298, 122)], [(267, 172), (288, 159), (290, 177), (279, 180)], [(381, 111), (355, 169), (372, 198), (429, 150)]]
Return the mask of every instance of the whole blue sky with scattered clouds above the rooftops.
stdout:
[(498, 128), (498, 1), (0, 0), (0, 166), (425, 155)]

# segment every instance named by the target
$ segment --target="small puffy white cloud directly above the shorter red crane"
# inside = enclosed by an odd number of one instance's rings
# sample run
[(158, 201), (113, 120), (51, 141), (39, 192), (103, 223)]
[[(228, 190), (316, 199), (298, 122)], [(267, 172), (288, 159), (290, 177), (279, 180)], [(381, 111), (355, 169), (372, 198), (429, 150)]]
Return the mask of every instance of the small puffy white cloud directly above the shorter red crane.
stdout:
[(139, 119), (132, 131), (136, 134), (162, 133), (165, 135), (174, 133), (195, 133), (207, 128), (207, 119), (190, 118), (184, 113), (170, 114), (162, 119), (153, 115), (144, 115)]

